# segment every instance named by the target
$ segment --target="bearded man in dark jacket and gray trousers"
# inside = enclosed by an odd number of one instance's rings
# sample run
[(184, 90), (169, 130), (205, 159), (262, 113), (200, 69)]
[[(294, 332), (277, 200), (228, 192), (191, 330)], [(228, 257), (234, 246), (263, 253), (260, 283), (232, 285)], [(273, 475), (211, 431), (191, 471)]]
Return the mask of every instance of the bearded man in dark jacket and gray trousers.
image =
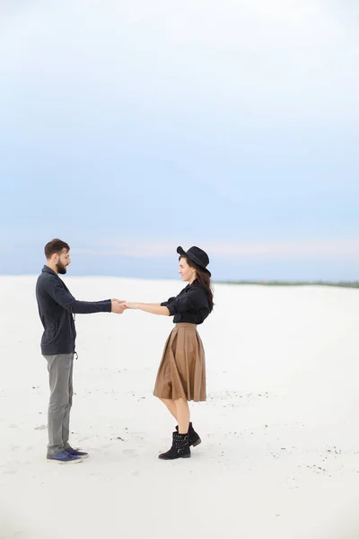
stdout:
[(118, 313), (125, 305), (118, 299), (77, 301), (58, 274), (65, 275), (70, 247), (55, 239), (45, 245), (46, 265), (36, 283), (36, 299), (44, 332), (41, 353), (48, 361), (50, 400), (48, 404), (48, 462), (80, 463), (88, 454), (68, 443), (73, 397), (74, 314)]

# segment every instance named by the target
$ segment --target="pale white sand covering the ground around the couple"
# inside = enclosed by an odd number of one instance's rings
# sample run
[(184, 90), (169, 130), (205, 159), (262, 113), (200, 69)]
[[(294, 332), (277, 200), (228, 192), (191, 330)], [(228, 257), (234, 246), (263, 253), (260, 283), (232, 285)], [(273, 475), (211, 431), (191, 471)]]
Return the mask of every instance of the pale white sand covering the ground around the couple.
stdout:
[[(0, 537), (359, 537), (359, 291), (217, 286), (200, 328), (208, 401), (192, 458), (157, 459), (174, 421), (152, 395), (171, 319), (77, 315), (72, 442), (48, 464), (34, 277), (0, 278)], [(71, 278), (74, 296), (159, 301), (177, 281)]]

